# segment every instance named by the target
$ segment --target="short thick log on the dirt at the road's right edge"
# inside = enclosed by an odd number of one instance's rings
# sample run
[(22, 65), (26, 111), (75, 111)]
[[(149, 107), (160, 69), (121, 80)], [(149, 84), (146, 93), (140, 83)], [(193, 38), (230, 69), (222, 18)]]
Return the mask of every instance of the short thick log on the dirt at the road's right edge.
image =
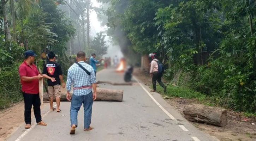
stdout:
[(186, 105), (183, 109), (184, 117), (192, 122), (208, 123), (223, 127), (227, 124), (227, 110), (206, 106), (203, 104)]

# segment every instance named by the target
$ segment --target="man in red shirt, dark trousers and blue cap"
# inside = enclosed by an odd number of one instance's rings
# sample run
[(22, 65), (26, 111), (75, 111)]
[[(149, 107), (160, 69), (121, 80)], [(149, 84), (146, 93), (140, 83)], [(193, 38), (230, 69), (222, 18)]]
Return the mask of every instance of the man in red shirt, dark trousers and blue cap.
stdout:
[(47, 124), (42, 121), (40, 110), (40, 97), (39, 97), (39, 81), (42, 79), (42, 75), (37, 71), (36, 65), (34, 65), (35, 56), (34, 51), (28, 50), (25, 52), (25, 60), (19, 66), (20, 82), (22, 84), (22, 92), (25, 104), (25, 128), (28, 129), (31, 126), (31, 108), (33, 105), (34, 114), (36, 117), (36, 123), (38, 125), (46, 126)]

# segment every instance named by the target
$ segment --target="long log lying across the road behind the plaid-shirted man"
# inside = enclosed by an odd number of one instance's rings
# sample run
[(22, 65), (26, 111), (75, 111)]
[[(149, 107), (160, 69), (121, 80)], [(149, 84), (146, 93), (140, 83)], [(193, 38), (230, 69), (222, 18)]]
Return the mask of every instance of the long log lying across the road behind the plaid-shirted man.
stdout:
[[(105, 100), (105, 101), (123, 101), (123, 90), (112, 90), (112, 89), (105, 89), (105, 88), (97, 88), (97, 101)], [(72, 93), (70, 93), (72, 96)], [(47, 94), (44, 94), (43, 100), (49, 101), (50, 98)], [(55, 97), (54, 97), (55, 101)], [(66, 99), (66, 91), (61, 91), (60, 101), (67, 101)]]

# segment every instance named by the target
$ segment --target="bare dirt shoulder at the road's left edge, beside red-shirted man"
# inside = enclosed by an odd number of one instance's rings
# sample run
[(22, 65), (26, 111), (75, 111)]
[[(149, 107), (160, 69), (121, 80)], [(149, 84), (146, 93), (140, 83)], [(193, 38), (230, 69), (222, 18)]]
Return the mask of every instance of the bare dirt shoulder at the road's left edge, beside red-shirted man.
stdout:
[[(48, 105), (44, 103), (41, 109)], [(31, 118), (34, 118), (33, 108)], [(19, 102), (0, 112), (0, 141), (6, 140), (24, 123), (24, 102)]]

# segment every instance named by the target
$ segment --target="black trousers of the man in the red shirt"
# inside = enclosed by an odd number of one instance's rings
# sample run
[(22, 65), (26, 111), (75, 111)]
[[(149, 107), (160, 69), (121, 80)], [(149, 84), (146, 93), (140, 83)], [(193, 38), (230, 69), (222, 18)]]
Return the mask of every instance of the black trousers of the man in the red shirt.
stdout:
[(25, 103), (25, 123), (26, 124), (31, 124), (31, 108), (33, 105), (34, 109), (34, 115), (36, 117), (36, 123), (42, 121), (41, 117), (41, 110), (40, 110), (40, 97), (39, 93), (38, 94), (28, 94), (23, 92), (23, 98), (24, 98), (24, 103)]

